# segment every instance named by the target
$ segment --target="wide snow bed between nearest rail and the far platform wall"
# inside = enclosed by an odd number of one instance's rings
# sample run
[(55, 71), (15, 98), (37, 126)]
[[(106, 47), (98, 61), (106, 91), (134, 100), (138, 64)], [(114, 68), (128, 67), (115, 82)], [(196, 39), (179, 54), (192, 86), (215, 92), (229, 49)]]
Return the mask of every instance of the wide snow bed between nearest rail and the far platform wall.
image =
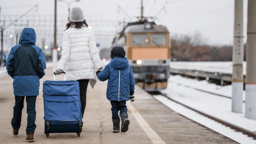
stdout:
[[(181, 84), (186, 84), (188, 78), (180, 77), (179, 75), (170, 76), (169, 81), (179, 78)], [(200, 85), (201, 81), (193, 81), (192, 85)], [(190, 85), (191, 86), (191, 85)], [(214, 91), (216, 87), (212, 84), (204, 83), (205, 90)], [(250, 131), (256, 131), (256, 121), (245, 118), (243, 105), (243, 114), (231, 112), (231, 99), (226, 97), (217, 96), (215, 94), (195, 90), (194, 88), (186, 87), (176, 83), (169, 82), (167, 89), (162, 90), (168, 97), (197, 109), (201, 112), (207, 113), (214, 117), (220, 118), (231, 124), (245, 128)], [(223, 90), (223, 93), (225, 90)], [(226, 93), (227, 94), (227, 93)]]

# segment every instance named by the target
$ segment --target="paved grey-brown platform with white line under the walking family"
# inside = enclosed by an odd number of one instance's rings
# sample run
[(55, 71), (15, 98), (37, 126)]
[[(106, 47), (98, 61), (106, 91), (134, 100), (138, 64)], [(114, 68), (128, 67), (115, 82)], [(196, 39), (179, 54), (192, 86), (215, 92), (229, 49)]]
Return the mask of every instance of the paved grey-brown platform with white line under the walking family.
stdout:
[[(46, 75), (40, 80), (40, 93), (36, 100), (36, 131), (34, 143), (61, 144), (113, 144), (113, 143), (211, 143), (235, 144), (232, 139), (223, 136), (183, 115), (173, 111), (150, 94), (136, 86), (135, 101), (127, 102), (130, 120), (126, 133), (113, 133), (111, 104), (106, 98), (107, 81), (98, 81), (92, 90), (88, 86), (86, 110), (83, 118), (83, 132), (80, 137), (76, 133), (44, 134), (44, 109), (42, 83), (53, 80), (52, 68), (45, 70)], [(56, 76), (62, 80), (63, 75)], [(0, 76), (0, 143), (27, 143), (27, 114), (24, 104), (19, 135), (12, 134), (11, 119), (13, 115), (14, 95), (13, 80), (9, 75)]]

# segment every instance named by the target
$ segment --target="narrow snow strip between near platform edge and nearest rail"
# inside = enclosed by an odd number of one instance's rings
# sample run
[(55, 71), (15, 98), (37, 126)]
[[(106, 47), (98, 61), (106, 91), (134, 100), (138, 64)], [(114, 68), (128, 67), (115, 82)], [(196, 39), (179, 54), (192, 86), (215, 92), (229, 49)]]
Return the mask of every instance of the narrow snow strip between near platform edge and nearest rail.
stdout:
[(220, 134), (223, 134), (224, 136), (227, 136), (230, 139), (235, 140), (236, 142), (239, 142), (241, 144), (256, 143), (256, 140), (254, 140), (252, 137), (248, 137), (247, 135), (244, 135), (241, 132), (236, 132), (235, 130), (232, 130), (230, 127), (226, 127), (225, 125), (222, 125), (210, 118), (205, 117), (204, 115), (201, 115), (191, 109), (188, 109), (185, 106), (175, 103), (162, 95), (154, 95), (154, 97), (157, 100), (164, 103), (170, 109), (173, 109), (174, 111), (180, 113), (181, 115), (184, 115), (187, 118), (190, 118), (206, 127), (209, 127), (210, 129)]

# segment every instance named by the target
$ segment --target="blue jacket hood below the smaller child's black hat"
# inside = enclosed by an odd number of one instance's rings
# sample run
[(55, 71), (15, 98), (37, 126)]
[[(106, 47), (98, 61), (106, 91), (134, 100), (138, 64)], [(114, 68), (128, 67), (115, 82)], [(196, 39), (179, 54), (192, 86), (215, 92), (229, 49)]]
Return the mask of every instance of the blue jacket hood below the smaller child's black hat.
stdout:
[(126, 69), (129, 65), (129, 62), (127, 60), (127, 58), (122, 58), (122, 57), (114, 57), (111, 61), (110, 61), (110, 65), (114, 68), (114, 69)]

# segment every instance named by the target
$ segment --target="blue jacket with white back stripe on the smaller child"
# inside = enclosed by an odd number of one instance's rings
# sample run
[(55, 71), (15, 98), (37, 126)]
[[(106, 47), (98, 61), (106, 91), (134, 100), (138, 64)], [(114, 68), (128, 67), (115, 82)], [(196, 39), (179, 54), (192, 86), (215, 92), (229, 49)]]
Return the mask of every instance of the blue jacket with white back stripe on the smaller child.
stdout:
[(114, 57), (97, 77), (100, 81), (108, 79), (108, 100), (129, 100), (130, 91), (134, 90), (135, 82), (133, 70), (127, 58)]

